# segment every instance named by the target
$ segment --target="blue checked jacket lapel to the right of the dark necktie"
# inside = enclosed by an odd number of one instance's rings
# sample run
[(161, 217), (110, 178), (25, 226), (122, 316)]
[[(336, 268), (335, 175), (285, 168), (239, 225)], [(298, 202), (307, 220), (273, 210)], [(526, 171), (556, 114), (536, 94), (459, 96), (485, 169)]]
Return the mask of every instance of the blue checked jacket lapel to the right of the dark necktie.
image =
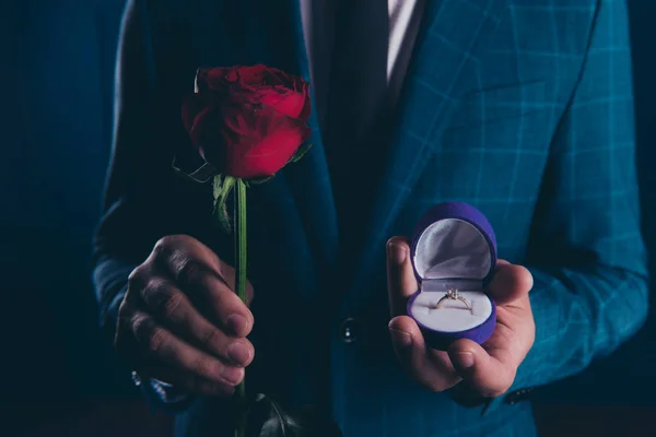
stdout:
[(399, 103), (400, 119), (390, 160), (348, 300), (359, 298), (355, 290), (363, 288), (371, 270), (382, 261), (388, 232), (430, 161), (431, 143), (457, 102), (459, 79), (478, 61), (505, 3), (506, 0), (426, 0)]

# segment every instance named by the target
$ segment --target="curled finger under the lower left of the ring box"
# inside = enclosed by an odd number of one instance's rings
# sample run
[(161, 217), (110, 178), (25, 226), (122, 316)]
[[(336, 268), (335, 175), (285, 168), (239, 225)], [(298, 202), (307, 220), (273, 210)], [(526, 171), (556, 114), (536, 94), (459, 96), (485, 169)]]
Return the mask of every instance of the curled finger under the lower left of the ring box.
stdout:
[(417, 322), (410, 317), (391, 319), (389, 333), (399, 362), (422, 386), (432, 391), (444, 391), (460, 381), (448, 356), (426, 347)]

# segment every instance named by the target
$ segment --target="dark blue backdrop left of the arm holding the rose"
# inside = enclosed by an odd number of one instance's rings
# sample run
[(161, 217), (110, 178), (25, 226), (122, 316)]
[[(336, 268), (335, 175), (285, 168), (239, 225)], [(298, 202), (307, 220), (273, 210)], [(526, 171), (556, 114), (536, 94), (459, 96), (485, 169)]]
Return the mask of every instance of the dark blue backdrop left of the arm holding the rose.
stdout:
[(22, 424), (79, 414), (67, 402), (136, 397), (98, 336), (89, 268), (122, 7), (0, 7), (0, 95), (9, 102), (0, 117), (0, 399)]

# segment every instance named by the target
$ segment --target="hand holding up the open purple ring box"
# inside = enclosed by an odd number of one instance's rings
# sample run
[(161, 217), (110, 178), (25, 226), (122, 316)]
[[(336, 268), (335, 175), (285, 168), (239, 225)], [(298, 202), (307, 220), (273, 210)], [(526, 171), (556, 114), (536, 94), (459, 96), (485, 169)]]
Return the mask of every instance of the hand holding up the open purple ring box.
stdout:
[(406, 239), (387, 244), (389, 332), (403, 367), (422, 386), (444, 391), (465, 381), (485, 398), (495, 398), (512, 386), (517, 367), (535, 340), (535, 322), (528, 298), (532, 276), (522, 265), (499, 260), (489, 295), (495, 300), (496, 328), (482, 346), (470, 340), (454, 342), (447, 352), (427, 347), (417, 322), (406, 314), (408, 298), (418, 290)]

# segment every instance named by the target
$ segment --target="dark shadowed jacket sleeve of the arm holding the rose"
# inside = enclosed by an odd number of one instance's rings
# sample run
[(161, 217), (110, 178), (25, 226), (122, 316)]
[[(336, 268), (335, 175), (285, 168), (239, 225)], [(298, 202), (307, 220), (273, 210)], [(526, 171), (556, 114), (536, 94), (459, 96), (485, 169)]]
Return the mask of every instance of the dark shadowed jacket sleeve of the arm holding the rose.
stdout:
[[(175, 57), (175, 50), (167, 49), (167, 55)], [(174, 147), (188, 145), (180, 120), (181, 94), (194, 91), (194, 70), (185, 69), (184, 58), (174, 63), (176, 69), (162, 71), (145, 2), (128, 1), (117, 58), (112, 161), (93, 247), (101, 324), (109, 338), (116, 331), (129, 273), (160, 238), (187, 234), (212, 243), (209, 187), (179, 180), (172, 170)], [(188, 86), (173, 85), (187, 83), (187, 76)]]

